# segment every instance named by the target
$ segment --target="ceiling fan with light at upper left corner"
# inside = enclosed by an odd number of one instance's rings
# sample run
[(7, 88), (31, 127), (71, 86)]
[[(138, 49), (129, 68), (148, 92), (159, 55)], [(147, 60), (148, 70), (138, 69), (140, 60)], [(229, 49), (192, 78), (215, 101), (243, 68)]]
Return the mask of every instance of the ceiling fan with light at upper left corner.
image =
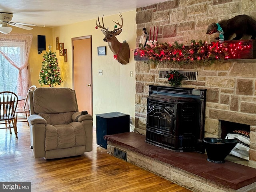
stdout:
[[(12, 28), (9, 27), (8, 25), (26, 29), (26, 30), (33, 29), (32, 27), (28, 27), (28, 26), (36, 26), (34, 24), (12, 22), (11, 21), (12, 16), (13, 16), (12, 13), (0, 13), (0, 25), (2, 24), (2, 26), (0, 27), (1, 33), (8, 34), (12, 31)], [(26, 25), (28, 25), (28, 26), (26, 26)]]

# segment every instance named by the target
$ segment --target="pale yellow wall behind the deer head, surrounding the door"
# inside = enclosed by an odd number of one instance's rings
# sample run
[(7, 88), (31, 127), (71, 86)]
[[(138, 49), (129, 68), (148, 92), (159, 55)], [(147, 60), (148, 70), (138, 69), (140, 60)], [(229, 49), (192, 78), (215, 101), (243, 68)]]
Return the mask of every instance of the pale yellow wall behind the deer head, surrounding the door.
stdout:
[[(68, 62), (64, 62), (64, 56), (58, 56), (63, 87), (72, 88), (71, 39), (80, 36), (92, 36), (92, 115), (94, 127), (96, 127), (96, 114), (118, 111), (129, 114), (133, 119), (135, 116), (135, 61), (132, 49), (135, 48), (136, 42), (136, 10), (124, 12), (122, 16), (124, 20), (123, 31), (117, 36), (117, 39), (120, 42), (126, 40), (130, 46), (130, 62), (126, 65), (113, 59), (113, 53), (108, 48), (108, 44), (103, 41), (103, 33), (100, 29), (95, 29), (96, 18), (53, 28), (53, 41), (55, 42), (55, 38), (58, 37), (59, 42), (64, 43), (64, 48), (68, 49)], [(119, 20), (120, 22), (120, 17), (118, 14), (104, 17), (104, 25), (109, 26), (109, 30), (114, 29), (115, 24), (112, 20)], [(106, 56), (97, 55), (98, 46), (106, 46)], [(52, 50), (56, 51), (55, 45)], [(98, 75), (99, 69), (103, 70), (102, 76)], [(132, 77), (130, 77), (130, 71), (133, 72)]]

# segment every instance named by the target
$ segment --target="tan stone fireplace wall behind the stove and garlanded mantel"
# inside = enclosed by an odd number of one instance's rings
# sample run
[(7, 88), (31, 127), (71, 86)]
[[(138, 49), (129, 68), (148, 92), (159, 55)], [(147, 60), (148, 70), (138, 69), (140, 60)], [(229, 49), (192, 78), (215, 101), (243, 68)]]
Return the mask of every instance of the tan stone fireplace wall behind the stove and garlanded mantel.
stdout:
[[(137, 9), (137, 36), (142, 28), (159, 27), (158, 42), (192, 39), (211, 42), (218, 34), (206, 35), (212, 22), (247, 14), (256, 19), (254, 0), (171, 0)], [(136, 61), (135, 130), (146, 133), (148, 85), (169, 86), (158, 79), (159, 70), (197, 71), (197, 81), (182, 87), (207, 89), (205, 137), (220, 137), (220, 121), (250, 125), (249, 166), (256, 167), (256, 59), (228, 60), (214, 64), (170, 65)]]

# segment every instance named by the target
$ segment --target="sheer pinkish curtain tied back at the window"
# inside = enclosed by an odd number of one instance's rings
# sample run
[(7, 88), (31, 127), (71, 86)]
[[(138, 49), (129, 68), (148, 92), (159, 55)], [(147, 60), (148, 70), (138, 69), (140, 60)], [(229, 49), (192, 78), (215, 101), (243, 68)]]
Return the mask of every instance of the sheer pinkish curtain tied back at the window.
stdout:
[[(0, 34), (0, 54), (19, 70), (16, 94), (21, 96), (26, 96), (31, 86), (28, 56), (32, 38), (32, 34)], [(8, 51), (8, 47), (13, 46), (20, 47), (20, 54)]]

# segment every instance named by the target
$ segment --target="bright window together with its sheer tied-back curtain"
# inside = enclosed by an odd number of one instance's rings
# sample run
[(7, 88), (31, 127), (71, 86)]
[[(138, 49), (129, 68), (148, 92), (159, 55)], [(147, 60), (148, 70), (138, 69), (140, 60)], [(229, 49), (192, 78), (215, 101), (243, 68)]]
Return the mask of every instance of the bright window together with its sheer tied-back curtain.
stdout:
[(0, 91), (26, 96), (31, 86), (28, 56), (32, 38), (32, 34), (0, 34)]

